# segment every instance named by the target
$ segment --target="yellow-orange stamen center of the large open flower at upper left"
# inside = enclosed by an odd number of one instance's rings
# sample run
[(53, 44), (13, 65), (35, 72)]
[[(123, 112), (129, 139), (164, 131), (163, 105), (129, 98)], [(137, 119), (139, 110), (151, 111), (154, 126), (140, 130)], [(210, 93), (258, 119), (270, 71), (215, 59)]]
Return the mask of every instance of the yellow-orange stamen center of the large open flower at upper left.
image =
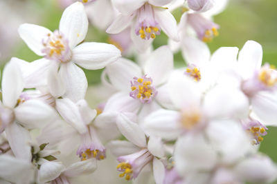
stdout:
[(47, 59), (53, 59), (66, 63), (71, 60), (71, 49), (69, 48), (69, 41), (64, 39), (62, 33), (55, 30), (53, 34), (47, 34), (46, 39), (42, 40), (44, 49), (42, 52)]

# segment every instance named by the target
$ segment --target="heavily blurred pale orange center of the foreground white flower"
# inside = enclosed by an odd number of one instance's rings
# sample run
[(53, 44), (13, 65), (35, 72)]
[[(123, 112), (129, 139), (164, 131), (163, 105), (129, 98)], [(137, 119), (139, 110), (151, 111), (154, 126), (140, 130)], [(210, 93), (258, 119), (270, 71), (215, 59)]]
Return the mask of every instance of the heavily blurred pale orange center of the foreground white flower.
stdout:
[(202, 116), (197, 110), (184, 110), (181, 112), (181, 125), (187, 130), (193, 129), (202, 120)]

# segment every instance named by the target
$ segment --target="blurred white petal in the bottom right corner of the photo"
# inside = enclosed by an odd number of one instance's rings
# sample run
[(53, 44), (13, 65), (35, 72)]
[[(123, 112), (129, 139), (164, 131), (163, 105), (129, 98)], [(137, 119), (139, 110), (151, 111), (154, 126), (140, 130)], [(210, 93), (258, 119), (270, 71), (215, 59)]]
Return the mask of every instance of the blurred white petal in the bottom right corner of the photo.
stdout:
[(277, 167), (267, 156), (252, 156), (235, 167), (235, 173), (243, 181), (271, 183), (276, 180)]

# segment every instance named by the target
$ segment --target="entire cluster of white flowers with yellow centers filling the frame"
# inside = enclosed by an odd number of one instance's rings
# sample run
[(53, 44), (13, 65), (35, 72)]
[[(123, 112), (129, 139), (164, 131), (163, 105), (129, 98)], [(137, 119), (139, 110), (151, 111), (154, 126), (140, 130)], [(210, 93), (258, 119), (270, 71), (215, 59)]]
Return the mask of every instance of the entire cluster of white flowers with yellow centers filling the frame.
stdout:
[[(42, 58), (14, 57), (3, 69), (0, 183), (276, 180), (277, 165), (258, 148), (277, 125), (277, 71), (262, 65), (256, 41), (213, 54), (206, 45), (226, 0), (67, 3), (57, 30), (18, 28)], [(109, 43), (84, 41), (89, 20)], [(162, 32), (168, 45), (154, 50)], [(186, 64), (175, 68), (178, 50)], [(82, 68), (103, 68), (98, 88)], [(85, 99), (91, 90), (98, 105)]]

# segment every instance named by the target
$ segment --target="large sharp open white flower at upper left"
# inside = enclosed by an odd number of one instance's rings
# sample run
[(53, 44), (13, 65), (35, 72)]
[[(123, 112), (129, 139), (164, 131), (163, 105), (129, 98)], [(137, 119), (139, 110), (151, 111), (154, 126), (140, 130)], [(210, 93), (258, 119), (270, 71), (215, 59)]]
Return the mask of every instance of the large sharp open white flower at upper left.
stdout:
[[(87, 90), (86, 76), (77, 65), (96, 70), (104, 68), (120, 57), (120, 51), (114, 45), (93, 42), (78, 45), (84, 40), (87, 28), (87, 15), (80, 2), (73, 3), (64, 10), (60, 29), (55, 32), (28, 23), (19, 27), (19, 35), (28, 47), (39, 56), (46, 58), (40, 63), (41, 65), (37, 63), (39, 66), (33, 68), (33, 72), (53, 65), (57, 77), (64, 83), (65, 94), (62, 95), (73, 101), (83, 99)], [(39, 74), (33, 76), (39, 77)], [(49, 78), (48, 83), (55, 83), (51, 81), (53, 77), (49, 76)]]

